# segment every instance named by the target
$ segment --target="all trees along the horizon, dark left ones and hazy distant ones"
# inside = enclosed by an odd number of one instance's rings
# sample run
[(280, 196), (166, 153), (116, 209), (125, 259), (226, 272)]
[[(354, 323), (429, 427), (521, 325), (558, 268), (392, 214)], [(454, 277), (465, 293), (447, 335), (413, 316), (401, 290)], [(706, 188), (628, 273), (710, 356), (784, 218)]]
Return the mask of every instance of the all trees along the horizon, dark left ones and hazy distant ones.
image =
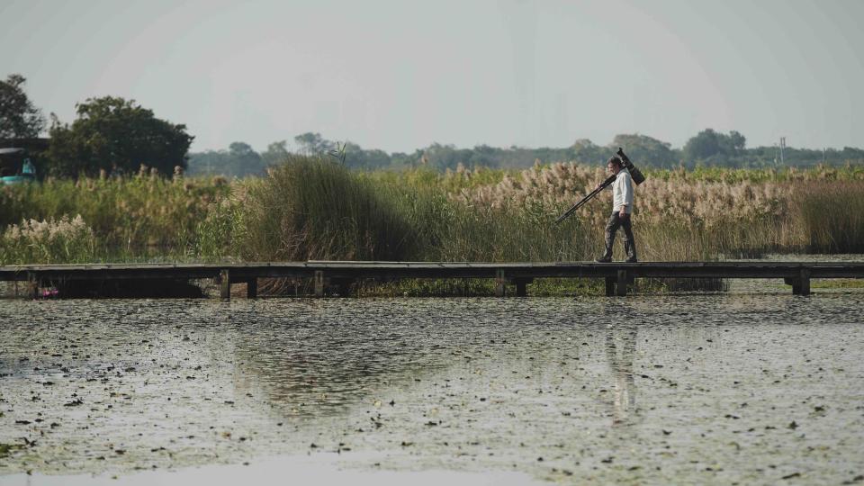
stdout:
[[(184, 124), (159, 119), (138, 103), (113, 96), (77, 103), (76, 119), (71, 123), (58, 120), (53, 113), (48, 123), (25, 93), (25, 82), (20, 75), (0, 80), (0, 141), (6, 146), (14, 145), (16, 139), (37, 138), (47, 130), (48, 148), (35, 157), (40, 175), (124, 174), (138, 172), (143, 165), (164, 175), (172, 174), (175, 166), (179, 166), (190, 175), (245, 177), (264, 175), (268, 166), (279, 164), (292, 154), (286, 139), (277, 140), (260, 152), (245, 142), (235, 141), (226, 149), (190, 153), (194, 137)], [(443, 171), (460, 165), (518, 168), (531, 166), (537, 160), (604, 164), (618, 147), (625, 148), (637, 165), (645, 167), (779, 165), (779, 148), (747, 148), (746, 141), (735, 130), (722, 133), (706, 129), (691, 137), (682, 148), (672, 148), (669, 142), (646, 135), (619, 134), (608, 145), (597, 145), (590, 139), (576, 139), (563, 148), (488, 145), (456, 148), (433, 143), (410, 153), (387, 153), (362, 148), (351, 141), (325, 139), (320, 133), (307, 132), (293, 138), (294, 152), (333, 157), (350, 168), (363, 170), (427, 166)], [(782, 160), (785, 166), (864, 163), (864, 150), (787, 147)]]

